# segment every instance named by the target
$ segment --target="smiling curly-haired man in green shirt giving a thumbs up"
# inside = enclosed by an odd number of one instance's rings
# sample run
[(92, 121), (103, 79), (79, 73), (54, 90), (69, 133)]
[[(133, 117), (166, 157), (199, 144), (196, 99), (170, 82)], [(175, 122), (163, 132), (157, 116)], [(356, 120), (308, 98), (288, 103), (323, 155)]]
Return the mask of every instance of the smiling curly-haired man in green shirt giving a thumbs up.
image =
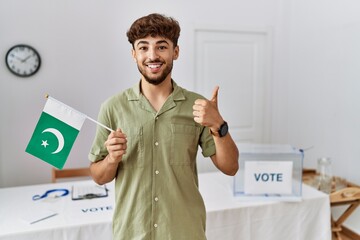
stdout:
[(176, 20), (150, 14), (127, 32), (140, 83), (101, 106), (89, 154), (98, 184), (115, 179), (114, 239), (203, 240), (206, 211), (198, 190), (198, 146), (228, 175), (238, 170), (238, 149), (210, 100), (171, 78), (179, 56)]

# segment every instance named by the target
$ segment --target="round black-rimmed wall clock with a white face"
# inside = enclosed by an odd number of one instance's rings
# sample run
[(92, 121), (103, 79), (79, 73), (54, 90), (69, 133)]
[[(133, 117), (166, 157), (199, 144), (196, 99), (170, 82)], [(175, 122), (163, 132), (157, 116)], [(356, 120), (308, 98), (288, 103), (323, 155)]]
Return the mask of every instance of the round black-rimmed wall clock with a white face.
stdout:
[(41, 59), (34, 48), (19, 44), (10, 48), (6, 54), (5, 62), (13, 74), (19, 77), (29, 77), (39, 70)]

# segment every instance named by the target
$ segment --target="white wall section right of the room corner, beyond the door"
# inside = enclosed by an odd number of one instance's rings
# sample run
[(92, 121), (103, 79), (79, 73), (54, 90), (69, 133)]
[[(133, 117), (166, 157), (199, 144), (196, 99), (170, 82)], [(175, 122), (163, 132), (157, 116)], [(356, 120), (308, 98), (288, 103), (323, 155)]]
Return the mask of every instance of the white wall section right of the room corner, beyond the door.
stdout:
[[(360, 2), (291, 1), (287, 35), (288, 142), (314, 146), (305, 165), (329, 156), (333, 173), (360, 184)], [(281, 68), (280, 65), (277, 65)], [(280, 70), (279, 70), (280, 71)], [(276, 139), (273, 129), (273, 140)], [(277, 139), (276, 139), (277, 140)], [(279, 139), (283, 140), (283, 139)], [(345, 223), (360, 233), (360, 211)]]

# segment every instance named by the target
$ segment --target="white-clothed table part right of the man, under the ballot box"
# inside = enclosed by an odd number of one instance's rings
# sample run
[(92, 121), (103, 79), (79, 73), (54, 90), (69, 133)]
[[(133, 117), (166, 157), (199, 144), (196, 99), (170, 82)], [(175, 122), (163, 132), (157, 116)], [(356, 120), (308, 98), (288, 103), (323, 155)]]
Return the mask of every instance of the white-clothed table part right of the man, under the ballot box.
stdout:
[(305, 184), (301, 202), (243, 201), (233, 178), (200, 175), (208, 240), (330, 240), (329, 196)]

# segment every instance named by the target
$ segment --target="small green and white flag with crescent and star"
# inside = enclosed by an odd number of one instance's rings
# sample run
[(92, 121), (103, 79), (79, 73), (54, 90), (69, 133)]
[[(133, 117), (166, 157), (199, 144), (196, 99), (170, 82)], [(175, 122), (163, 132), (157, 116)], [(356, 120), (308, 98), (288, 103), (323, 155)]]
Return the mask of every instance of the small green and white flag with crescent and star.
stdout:
[(62, 169), (86, 116), (48, 97), (26, 152)]

